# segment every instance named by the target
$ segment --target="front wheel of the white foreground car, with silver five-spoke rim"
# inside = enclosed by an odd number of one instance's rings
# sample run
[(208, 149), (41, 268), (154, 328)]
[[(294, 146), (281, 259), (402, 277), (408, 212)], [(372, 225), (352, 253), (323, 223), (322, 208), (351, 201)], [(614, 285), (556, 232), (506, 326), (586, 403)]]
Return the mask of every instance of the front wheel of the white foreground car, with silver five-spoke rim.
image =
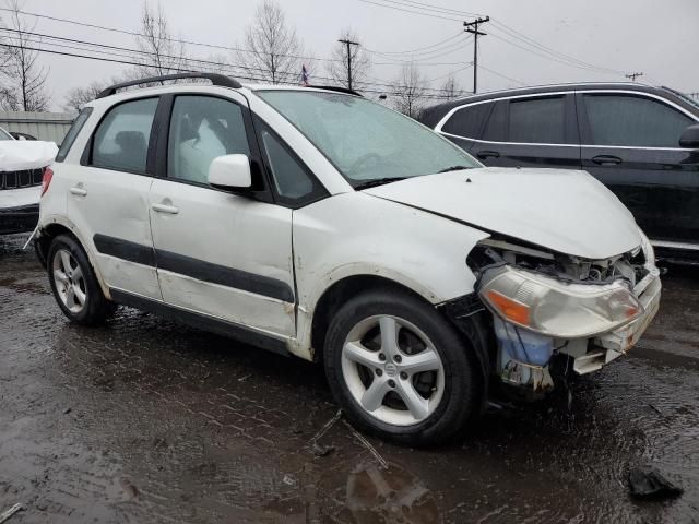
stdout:
[(336, 402), (368, 433), (434, 445), (452, 440), (479, 413), (484, 385), (473, 349), (411, 295), (377, 290), (352, 298), (332, 319), (323, 350)]

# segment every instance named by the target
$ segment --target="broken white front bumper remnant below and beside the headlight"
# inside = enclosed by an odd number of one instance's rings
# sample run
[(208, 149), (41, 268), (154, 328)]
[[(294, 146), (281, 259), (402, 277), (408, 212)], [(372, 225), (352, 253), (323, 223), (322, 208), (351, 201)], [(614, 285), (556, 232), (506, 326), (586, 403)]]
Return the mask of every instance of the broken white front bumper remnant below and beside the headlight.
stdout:
[(618, 330), (593, 338), (584, 355), (561, 350), (561, 353), (568, 353), (574, 358), (573, 371), (579, 374), (590, 373), (615, 358), (626, 355), (655, 318), (660, 309), (661, 289), (660, 272), (653, 267), (633, 288), (633, 294), (643, 306), (643, 314)]

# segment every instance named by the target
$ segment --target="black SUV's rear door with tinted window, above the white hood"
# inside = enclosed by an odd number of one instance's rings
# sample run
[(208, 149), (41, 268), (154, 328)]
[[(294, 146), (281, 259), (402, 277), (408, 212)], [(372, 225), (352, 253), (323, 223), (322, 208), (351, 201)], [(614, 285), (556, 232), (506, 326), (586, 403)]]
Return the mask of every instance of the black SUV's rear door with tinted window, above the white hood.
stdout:
[(486, 166), (579, 169), (573, 95), (495, 102), (471, 154)]

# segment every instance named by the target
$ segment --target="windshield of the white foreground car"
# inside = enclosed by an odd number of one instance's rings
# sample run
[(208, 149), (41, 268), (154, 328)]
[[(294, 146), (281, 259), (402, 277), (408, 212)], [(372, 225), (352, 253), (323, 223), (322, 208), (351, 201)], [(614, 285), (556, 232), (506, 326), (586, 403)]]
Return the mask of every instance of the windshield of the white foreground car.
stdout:
[(296, 126), (355, 188), (481, 167), (431, 130), (358, 96), (313, 91), (257, 94)]

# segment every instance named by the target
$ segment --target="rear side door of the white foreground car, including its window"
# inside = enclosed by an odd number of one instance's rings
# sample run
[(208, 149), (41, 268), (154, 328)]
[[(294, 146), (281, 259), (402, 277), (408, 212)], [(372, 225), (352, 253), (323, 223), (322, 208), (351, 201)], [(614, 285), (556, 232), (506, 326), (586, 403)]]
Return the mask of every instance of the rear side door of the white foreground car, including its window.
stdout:
[(158, 102), (129, 99), (111, 107), (95, 128), (81, 165), (60, 165), (68, 216), (92, 245), (107, 286), (155, 299), (161, 290), (149, 219), (149, 151)]

